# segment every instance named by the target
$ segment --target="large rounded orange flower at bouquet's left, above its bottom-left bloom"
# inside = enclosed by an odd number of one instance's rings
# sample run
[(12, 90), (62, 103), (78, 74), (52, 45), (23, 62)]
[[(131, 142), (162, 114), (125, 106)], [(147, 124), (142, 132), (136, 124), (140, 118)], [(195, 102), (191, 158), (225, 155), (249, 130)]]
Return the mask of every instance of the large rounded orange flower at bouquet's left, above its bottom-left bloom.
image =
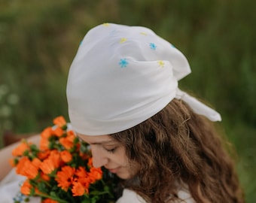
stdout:
[(32, 164), (27, 156), (23, 156), (17, 164), (16, 173), (34, 179), (38, 175), (38, 168)]

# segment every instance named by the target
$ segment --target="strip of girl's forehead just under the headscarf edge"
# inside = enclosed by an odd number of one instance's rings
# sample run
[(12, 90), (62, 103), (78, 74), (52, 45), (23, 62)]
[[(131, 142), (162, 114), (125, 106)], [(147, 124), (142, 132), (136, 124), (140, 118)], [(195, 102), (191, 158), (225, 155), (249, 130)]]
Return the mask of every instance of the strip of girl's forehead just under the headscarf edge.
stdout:
[(78, 138), (81, 138), (83, 141), (87, 142), (88, 144), (105, 144), (114, 142), (114, 138), (110, 135), (83, 135), (80, 133), (76, 133)]

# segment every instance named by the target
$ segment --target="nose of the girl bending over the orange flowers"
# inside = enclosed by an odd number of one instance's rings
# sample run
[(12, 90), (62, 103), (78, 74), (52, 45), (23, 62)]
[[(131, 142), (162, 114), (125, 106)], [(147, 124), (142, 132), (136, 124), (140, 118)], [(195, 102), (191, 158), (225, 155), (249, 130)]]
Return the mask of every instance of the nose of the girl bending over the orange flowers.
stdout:
[(90, 146), (93, 156), (93, 167), (100, 168), (108, 163), (108, 158), (102, 152), (99, 146)]

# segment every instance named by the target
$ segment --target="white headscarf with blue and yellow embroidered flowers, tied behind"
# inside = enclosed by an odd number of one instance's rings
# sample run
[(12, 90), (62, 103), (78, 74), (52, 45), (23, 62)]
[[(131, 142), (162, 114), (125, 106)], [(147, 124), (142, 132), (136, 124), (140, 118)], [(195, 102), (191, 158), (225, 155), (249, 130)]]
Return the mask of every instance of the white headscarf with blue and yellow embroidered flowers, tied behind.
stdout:
[(151, 29), (104, 23), (85, 35), (67, 84), (72, 128), (109, 135), (154, 116), (173, 98), (209, 120), (220, 115), (178, 89), (190, 74), (185, 56)]

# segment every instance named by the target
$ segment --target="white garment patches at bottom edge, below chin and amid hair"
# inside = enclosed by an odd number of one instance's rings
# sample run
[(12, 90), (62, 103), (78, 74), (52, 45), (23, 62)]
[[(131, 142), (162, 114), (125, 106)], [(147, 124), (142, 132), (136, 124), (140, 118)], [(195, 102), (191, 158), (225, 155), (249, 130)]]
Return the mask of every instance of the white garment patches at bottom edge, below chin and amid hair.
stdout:
[[(178, 197), (183, 199), (183, 201), (181, 201), (182, 203), (195, 203), (191, 195), (184, 190), (180, 190), (178, 192)], [(123, 195), (117, 200), (117, 203), (147, 203), (147, 202), (136, 192), (133, 192), (130, 189), (123, 189)]]

